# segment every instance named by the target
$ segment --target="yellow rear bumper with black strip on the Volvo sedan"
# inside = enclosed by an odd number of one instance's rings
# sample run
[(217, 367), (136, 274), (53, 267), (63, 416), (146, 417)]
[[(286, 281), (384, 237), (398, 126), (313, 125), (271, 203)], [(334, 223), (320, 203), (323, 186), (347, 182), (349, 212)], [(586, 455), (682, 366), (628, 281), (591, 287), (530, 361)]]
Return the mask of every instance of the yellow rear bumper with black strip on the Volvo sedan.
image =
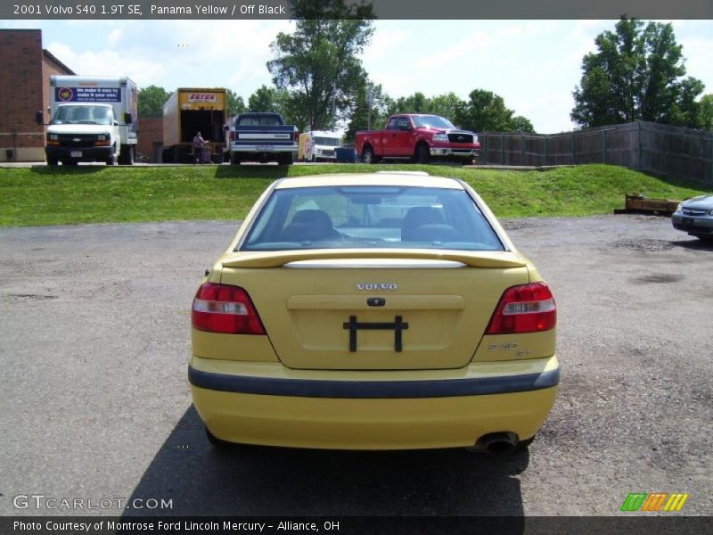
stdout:
[(324, 449), (473, 446), (532, 437), (557, 394), (556, 357), (437, 372), (314, 372), (194, 357), (193, 401), (209, 431), (240, 443)]

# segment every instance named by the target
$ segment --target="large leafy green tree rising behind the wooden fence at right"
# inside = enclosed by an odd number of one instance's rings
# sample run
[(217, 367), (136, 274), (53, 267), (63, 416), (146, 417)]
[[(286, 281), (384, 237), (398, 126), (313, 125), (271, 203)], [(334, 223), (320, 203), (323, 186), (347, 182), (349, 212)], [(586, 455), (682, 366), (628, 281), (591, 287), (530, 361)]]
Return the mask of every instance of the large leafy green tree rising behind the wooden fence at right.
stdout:
[(596, 37), (582, 60), (572, 120), (583, 127), (649, 120), (694, 127), (704, 86), (685, 78), (681, 45), (671, 24), (622, 19)]

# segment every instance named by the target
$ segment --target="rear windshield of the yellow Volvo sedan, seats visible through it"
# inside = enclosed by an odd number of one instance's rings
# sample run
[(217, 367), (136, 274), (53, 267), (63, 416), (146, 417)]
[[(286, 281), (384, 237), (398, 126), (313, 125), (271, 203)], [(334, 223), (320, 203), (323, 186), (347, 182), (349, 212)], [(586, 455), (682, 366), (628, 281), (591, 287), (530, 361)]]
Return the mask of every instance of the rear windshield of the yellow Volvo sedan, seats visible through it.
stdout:
[(241, 251), (374, 247), (504, 251), (465, 191), (373, 185), (277, 189)]

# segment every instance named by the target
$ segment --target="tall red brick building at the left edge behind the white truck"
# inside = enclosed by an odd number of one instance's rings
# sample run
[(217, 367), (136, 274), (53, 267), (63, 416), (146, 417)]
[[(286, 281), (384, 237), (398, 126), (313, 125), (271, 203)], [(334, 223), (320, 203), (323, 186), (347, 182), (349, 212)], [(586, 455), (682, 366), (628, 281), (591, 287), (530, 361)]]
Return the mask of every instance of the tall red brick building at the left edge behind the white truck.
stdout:
[(42, 48), (40, 29), (0, 29), (0, 161), (45, 161), (50, 76), (75, 74)]

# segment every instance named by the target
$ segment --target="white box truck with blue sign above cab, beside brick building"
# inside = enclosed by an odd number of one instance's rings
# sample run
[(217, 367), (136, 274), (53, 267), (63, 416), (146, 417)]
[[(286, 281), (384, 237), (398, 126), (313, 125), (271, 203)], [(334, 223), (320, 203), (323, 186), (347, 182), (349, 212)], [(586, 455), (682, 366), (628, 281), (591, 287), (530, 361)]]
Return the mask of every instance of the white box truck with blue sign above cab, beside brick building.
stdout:
[[(107, 165), (132, 165), (137, 143), (136, 95), (135, 82), (126, 77), (50, 77), (47, 164), (105, 161)], [(36, 119), (44, 124), (44, 113), (37, 111)]]

